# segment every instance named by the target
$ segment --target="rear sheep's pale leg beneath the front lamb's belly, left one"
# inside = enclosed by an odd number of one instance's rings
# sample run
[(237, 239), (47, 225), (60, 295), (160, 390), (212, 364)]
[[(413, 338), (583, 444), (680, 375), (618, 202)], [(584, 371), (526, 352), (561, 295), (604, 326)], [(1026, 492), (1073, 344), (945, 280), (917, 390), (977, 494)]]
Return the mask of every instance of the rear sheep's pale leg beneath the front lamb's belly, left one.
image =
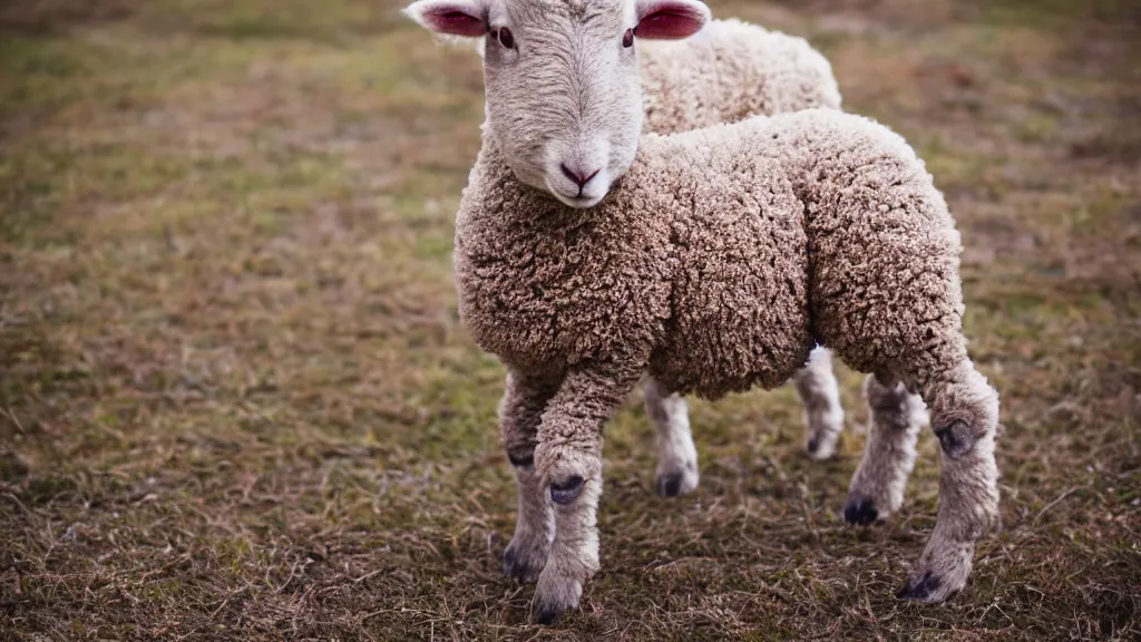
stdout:
[(675, 497), (697, 488), (697, 447), (681, 395), (646, 379), (646, 414), (657, 428), (657, 492)]

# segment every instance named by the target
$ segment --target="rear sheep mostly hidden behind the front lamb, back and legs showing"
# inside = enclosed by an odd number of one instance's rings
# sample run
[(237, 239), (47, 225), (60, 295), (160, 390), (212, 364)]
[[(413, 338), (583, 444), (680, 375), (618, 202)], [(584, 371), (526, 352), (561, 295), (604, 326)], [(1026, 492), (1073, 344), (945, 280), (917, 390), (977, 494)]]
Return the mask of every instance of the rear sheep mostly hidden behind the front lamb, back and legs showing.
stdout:
[[(642, 131), (678, 134), (751, 115), (840, 109), (832, 65), (802, 38), (729, 19), (711, 21), (686, 40), (649, 45), (638, 54)], [(827, 459), (844, 423), (827, 348), (814, 350), (793, 380), (804, 404), (806, 452)], [(686, 402), (663, 395), (652, 378), (644, 392), (646, 415), (656, 427), (657, 492), (689, 492), (697, 488), (698, 468)]]

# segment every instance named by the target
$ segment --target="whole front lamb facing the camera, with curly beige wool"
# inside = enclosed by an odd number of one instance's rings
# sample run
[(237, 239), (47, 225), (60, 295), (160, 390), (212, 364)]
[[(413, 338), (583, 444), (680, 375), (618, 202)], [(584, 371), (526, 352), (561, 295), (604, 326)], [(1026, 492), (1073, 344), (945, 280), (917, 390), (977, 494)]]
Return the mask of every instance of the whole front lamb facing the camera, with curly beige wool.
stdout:
[(929, 409), (939, 512), (898, 595), (963, 588), (998, 522), (998, 395), (968, 355), (958, 232), (914, 150), (827, 109), (642, 135), (634, 41), (691, 35), (709, 19), (698, 0), (407, 11), (487, 39), (454, 267), (463, 323), (509, 371), (519, 525), (504, 561), (537, 576), (534, 618), (576, 608), (599, 568), (601, 427), (645, 374), (662, 394), (717, 399), (783, 384), (815, 344), (869, 372), (857, 476), (872, 466), (883, 495), (856, 521), (906, 479)]

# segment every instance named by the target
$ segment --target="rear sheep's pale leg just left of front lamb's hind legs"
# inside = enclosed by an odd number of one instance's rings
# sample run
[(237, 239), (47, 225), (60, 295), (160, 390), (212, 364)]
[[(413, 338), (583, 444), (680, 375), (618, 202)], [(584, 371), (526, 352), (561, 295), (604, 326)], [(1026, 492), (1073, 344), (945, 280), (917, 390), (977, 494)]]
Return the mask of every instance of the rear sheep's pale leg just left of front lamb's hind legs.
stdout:
[(812, 459), (827, 459), (836, 450), (844, 428), (844, 409), (840, 406), (840, 386), (832, 372), (832, 353), (825, 347), (812, 350), (808, 366), (796, 371), (796, 392), (804, 402), (808, 439), (804, 450)]

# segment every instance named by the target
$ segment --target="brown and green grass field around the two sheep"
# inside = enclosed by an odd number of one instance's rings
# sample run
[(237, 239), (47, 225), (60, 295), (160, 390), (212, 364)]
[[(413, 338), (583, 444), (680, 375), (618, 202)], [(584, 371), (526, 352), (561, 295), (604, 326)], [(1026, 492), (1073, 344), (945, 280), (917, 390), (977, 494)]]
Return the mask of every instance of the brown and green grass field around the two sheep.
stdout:
[(946, 192), (1005, 528), (898, 602), (938, 444), (843, 525), (859, 375), (820, 464), (790, 387), (693, 403), (681, 499), (631, 402), (555, 629), (499, 570), (503, 371), (451, 282), (479, 66), (399, 6), (0, 6), (0, 640), (1141, 639), (1135, 2), (712, 5), (808, 37)]

